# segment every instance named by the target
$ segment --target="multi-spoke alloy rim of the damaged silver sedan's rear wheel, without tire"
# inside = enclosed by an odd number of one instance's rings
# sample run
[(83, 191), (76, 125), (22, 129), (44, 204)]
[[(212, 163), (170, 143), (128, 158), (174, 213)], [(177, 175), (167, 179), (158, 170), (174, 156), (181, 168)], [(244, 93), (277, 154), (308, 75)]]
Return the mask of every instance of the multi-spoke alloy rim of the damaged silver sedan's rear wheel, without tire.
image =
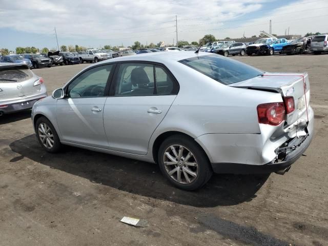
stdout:
[(176, 182), (189, 184), (198, 176), (198, 163), (194, 154), (182, 145), (169, 146), (164, 152), (163, 163)]

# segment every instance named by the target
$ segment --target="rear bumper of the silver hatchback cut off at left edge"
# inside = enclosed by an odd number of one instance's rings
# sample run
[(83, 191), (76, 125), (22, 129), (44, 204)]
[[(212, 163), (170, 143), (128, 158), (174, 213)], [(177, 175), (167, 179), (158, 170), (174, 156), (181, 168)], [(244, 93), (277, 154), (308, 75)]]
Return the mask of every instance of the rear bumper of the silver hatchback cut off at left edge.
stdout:
[(38, 94), (30, 95), (24, 98), (0, 101), (0, 112), (1, 114), (8, 114), (25, 109), (31, 109), (36, 101), (47, 96), (47, 90), (43, 90)]

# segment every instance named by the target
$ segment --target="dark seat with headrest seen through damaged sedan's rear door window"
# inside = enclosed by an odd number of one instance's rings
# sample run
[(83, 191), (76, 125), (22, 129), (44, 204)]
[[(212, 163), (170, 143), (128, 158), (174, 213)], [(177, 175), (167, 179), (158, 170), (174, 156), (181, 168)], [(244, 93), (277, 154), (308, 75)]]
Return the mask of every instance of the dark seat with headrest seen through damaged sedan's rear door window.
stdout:
[(138, 87), (131, 92), (131, 95), (152, 95), (154, 92), (153, 88), (149, 88), (149, 77), (145, 72), (144, 68), (142, 67), (135, 68), (132, 70), (131, 83), (134, 87)]

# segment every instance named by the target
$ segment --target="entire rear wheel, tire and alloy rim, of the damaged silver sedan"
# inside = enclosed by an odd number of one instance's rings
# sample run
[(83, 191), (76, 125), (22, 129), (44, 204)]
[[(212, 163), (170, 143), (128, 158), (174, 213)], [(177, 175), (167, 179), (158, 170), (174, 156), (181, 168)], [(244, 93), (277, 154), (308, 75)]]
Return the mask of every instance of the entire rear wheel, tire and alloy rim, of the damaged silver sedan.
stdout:
[(195, 190), (212, 176), (210, 161), (193, 139), (174, 135), (164, 140), (158, 150), (159, 168), (176, 187)]

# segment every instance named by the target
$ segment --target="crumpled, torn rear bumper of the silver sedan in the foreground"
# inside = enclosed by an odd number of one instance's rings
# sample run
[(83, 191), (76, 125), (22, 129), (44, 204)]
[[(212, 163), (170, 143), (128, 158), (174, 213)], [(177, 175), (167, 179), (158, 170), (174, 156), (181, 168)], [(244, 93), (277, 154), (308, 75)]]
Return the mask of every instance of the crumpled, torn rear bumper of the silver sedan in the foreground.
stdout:
[[(251, 174), (271, 173), (286, 169), (308, 148), (314, 135), (314, 112), (308, 108), (309, 121), (306, 137), (264, 139), (262, 134), (204, 134), (195, 140), (207, 153), (216, 173)], [(302, 116), (304, 121), (306, 116)], [(294, 133), (297, 127), (294, 128)], [(298, 129), (300, 132), (301, 130)], [(284, 144), (296, 146), (282, 159), (278, 152)], [(289, 146), (288, 146), (289, 147)]]

